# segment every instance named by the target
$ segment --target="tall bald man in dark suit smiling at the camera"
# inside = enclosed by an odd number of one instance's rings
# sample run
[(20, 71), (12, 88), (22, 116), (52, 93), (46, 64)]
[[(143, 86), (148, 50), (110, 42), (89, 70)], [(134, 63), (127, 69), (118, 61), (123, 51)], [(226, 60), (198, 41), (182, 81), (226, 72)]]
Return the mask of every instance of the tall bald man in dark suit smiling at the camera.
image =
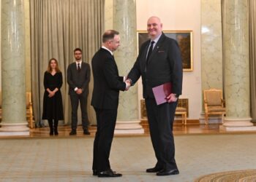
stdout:
[[(142, 76), (143, 98), (146, 100), (148, 124), (157, 164), (146, 170), (157, 175), (176, 175), (178, 167), (174, 158), (173, 119), (182, 87), (181, 52), (174, 39), (162, 33), (159, 17), (150, 17), (147, 23), (150, 39), (140, 47), (138, 58), (127, 78), (135, 84)], [(172, 92), (167, 103), (157, 106), (153, 87), (170, 82)]]

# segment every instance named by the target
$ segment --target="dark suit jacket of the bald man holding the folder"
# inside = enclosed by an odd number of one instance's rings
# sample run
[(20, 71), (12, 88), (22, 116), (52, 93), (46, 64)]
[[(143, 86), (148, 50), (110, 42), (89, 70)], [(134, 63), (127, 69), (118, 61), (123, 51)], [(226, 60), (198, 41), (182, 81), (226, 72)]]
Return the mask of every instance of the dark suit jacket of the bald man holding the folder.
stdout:
[(152, 87), (166, 82), (172, 83), (173, 93), (181, 95), (182, 62), (177, 42), (162, 33), (148, 58), (148, 66), (146, 66), (149, 44), (150, 40), (141, 45), (138, 58), (127, 77), (132, 79), (132, 84), (135, 84), (142, 76), (143, 98), (154, 98)]

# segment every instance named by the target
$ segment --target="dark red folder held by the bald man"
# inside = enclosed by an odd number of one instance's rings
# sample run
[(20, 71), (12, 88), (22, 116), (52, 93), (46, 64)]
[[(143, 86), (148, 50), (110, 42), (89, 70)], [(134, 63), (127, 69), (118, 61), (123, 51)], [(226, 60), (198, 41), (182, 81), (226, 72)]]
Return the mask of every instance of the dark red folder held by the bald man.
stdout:
[(154, 98), (157, 101), (157, 105), (161, 103), (166, 103), (167, 102), (167, 96), (170, 95), (172, 92), (172, 85), (170, 82), (167, 82), (165, 84), (161, 84), (157, 87), (152, 88), (153, 93), (154, 93)]

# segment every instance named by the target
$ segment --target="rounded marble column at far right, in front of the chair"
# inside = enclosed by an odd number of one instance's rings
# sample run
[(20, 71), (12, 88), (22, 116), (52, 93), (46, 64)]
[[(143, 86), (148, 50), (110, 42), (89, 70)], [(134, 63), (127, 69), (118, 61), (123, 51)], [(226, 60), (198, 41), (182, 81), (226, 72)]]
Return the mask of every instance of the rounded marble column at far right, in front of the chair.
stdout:
[(225, 0), (223, 33), (225, 58), (225, 130), (255, 130), (250, 117), (248, 3)]

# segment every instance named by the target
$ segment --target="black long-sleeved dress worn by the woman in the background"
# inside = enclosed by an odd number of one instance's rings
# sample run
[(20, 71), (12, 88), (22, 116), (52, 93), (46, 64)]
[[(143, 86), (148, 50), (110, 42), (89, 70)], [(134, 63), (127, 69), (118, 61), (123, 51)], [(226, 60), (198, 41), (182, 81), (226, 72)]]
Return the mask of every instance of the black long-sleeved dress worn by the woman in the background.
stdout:
[[(52, 75), (48, 71), (45, 71), (44, 86), (45, 94), (43, 100), (42, 119), (63, 120), (63, 105), (60, 90), (62, 86), (61, 72)], [(49, 92), (47, 92), (46, 89), (53, 91), (56, 89), (56, 87), (59, 90), (55, 93), (55, 95), (53, 95), (53, 97), (49, 98)]]

